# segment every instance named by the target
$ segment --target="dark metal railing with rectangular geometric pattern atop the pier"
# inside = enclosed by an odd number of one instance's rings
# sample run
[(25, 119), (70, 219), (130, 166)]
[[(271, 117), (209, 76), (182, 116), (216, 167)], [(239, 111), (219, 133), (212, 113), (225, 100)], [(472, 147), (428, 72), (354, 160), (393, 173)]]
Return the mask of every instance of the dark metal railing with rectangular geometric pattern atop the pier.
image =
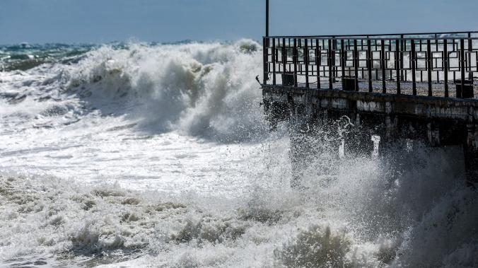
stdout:
[(264, 37), (263, 84), (473, 98), (477, 33)]

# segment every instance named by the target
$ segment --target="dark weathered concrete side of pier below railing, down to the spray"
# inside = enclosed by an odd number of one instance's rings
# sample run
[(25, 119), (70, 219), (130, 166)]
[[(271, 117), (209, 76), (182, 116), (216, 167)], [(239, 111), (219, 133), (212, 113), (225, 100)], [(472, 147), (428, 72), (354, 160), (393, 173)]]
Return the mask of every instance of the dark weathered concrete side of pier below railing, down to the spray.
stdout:
[(349, 117), (354, 129), (344, 139), (358, 147), (355, 153), (370, 147), (373, 134), (381, 144), (418, 139), (429, 146), (463, 146), (468, 180), (478, 180), (478, 100), (272, 85), (263, 85), (263, 97), (272, 127), (280, 121), (327, 125)]

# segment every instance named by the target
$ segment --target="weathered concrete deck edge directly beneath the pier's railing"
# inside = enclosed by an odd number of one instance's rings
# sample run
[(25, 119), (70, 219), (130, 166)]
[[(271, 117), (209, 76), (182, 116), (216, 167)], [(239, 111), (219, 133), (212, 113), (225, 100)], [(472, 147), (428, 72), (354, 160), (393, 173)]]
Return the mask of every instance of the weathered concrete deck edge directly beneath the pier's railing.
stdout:
[(264, 86), (264, 100), (284, 101), (292, 96), (295, 103), (316, 105), (318, 109), (356, 110), (379, 112), (414, 117), (465, 120), (478, 119), (478, 100), (428, 97), (414, 95), (392, 95), (340, 90), (311, 90)]

